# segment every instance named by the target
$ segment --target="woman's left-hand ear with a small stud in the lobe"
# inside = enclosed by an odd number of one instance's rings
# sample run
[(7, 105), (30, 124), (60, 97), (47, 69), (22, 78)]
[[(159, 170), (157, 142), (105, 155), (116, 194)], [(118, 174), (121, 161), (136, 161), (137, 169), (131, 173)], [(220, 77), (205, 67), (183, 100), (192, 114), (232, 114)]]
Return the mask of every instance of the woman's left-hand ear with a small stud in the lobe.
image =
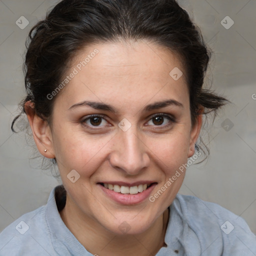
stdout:
[(25, 102), (24, 109), (39, 152), (47, 158), (54, 158), (55, 153), (53, 150), (51, 130), (47, 120), (43, 120), (35, 113), (34, 104), (31, 101)]

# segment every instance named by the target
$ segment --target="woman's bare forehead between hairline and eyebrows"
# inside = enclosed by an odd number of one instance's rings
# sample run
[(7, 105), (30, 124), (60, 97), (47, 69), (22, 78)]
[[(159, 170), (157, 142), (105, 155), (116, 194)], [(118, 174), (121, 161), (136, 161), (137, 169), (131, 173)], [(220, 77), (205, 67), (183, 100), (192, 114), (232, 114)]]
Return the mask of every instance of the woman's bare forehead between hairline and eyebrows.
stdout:
[(72, 72), (75, 75), (59, 97), (65, 98), (66, 106), (88, 98), (122, 104), (129, 99), (133, 105), (132, 100), (142, 104), (173, 97), (183, 103), (188, 99), (178, 56), (147, 41), (89, 45), (73, 58), (66, 75)]

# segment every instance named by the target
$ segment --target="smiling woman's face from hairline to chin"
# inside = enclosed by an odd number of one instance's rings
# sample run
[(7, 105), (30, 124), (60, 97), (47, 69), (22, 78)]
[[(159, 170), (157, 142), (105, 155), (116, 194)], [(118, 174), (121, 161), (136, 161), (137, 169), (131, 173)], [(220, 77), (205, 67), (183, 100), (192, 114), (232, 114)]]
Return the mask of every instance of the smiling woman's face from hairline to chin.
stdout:
[(177, 68), (174, 54), (145, 42), (94, 44), (77, 55), (54, 102), (50, 151), (79, 216), (135, 234), (171, 204), (184, 172), (172, 177), (200, 128), (191, 127)]

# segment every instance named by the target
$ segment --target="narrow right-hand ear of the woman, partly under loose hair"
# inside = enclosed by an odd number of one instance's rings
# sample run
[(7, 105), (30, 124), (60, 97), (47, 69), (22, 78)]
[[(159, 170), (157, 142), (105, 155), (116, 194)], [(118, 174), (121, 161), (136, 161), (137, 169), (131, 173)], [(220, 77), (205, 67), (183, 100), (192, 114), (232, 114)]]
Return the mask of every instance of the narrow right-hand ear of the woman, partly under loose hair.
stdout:
[(198, 114), (195, 119), (194, 125), (191, 127), (190, 131), (190, 142), (187, 157), (191, 157), (195, 151), (195, 142), (199, 136), (201, 126), (202, 126), (202, 113), (203, 107), (201, 107), (198, 111)]

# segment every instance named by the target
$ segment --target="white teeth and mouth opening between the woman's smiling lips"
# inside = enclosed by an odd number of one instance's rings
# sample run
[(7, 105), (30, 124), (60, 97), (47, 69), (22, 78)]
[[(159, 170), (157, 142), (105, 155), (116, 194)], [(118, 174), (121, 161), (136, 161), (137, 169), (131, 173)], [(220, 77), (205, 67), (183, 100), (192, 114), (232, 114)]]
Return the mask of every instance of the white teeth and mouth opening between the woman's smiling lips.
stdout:
[(154, 183), (150, 184), (139, 184), (136, 186), (123, 186), (123, 185), (117, 185), (117, 184), (107, 184), (107, 183), (99, 183), (100, 185), (104, 186), (106, 189), (113, 190), (117, 193), (122, 193), (122, 194), (137, 194), (141, 193), (144, 190), (146, 190), (148, 187), (150, 187)]

